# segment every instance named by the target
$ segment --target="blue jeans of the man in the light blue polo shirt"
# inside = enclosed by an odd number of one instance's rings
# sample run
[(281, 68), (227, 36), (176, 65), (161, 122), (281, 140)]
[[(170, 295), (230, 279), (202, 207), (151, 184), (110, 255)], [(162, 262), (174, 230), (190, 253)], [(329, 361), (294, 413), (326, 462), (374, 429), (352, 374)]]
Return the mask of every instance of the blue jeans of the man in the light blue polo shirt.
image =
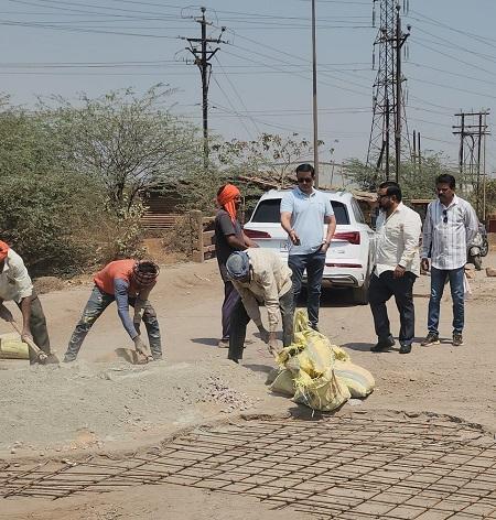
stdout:
[(310, 324), (316, 326), (319, 323), (319, 307), (321, 305), (321, 285), (325, 267), (325, 253), (315, 251), (310, 254), (290, 254), (288, 266), (293, 272), (293, 308), (296, 306), (303, 273), (306, 269), (306, 311)]

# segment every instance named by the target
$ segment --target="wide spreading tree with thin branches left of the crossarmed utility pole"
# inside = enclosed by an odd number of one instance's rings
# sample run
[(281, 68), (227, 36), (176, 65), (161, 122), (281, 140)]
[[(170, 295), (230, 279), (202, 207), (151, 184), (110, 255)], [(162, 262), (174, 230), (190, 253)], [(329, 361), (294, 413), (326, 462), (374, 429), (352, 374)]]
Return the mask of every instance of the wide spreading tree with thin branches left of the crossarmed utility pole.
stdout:
[(63, 98), (54, 98), (55, 109), (43, 104), (64, 143), (62, 160), (99, 178), (117, 213), (129, 212), (141, 191), (198, 167), (197, 129), (163, 108), (171, 93), (158, 85), (143, 96), (126, 89), (96, 99), (83, 95), (77, 106)]

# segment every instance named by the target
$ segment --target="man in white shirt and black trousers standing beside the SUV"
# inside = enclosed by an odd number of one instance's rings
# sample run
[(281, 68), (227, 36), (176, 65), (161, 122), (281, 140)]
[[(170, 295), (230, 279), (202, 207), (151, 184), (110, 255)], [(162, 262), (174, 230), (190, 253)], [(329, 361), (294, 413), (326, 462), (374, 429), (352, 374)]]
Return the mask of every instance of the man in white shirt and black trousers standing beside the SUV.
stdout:
[(413, 284), (420, 274), (419, 241), (422, 224), (418, 213), (401, 202), (401, 188), (391, 181), (377, 192), (381, 209), (377, 220), (375, 268), (369, 286), (369, 304), (378, 342), (373, 353), (395, 345), (386, 302), (395, 296), (400, 314), (400, 354), (409, 354), (414, 337)]

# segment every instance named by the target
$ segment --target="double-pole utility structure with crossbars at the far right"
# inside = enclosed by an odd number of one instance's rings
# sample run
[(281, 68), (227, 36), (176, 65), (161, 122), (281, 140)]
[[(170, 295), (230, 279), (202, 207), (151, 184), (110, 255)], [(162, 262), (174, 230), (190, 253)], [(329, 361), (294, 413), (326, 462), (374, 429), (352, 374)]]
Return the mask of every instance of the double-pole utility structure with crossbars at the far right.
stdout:
[[(455, 113), (459, 124), (453, 126), (453, 134), (460, 136), (459, 169), (462, 182), (470, 181), (476, 193), (477, 216), (485, 218), (485, 193), (481, 197), (481, 176), (483, 192), (486, 186), (486, 136), (490, 136), (487, 124), (489, 110)], [(481, 198), (483, 198), (481, 204)]]

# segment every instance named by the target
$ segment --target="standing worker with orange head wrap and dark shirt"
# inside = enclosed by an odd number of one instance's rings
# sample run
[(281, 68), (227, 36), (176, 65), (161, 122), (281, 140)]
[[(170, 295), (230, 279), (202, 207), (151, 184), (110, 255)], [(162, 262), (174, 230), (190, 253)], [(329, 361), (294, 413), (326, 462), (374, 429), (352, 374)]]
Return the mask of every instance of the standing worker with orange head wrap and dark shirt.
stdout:
[(245, 235), (238, 220), (238, 209), (241, 204), (239, 189), (233, 184), (220, 186), (217, 191), (217, 204), (219, 209), (215, 217), (215, 250), (220, 277), (224, 281), (223, 337), (218, 346), (228, 348), (230, 315), (239, 300), (239, 293), (227, 277), (226, 261), (234, 251), (242, 251), (258, 246)]

